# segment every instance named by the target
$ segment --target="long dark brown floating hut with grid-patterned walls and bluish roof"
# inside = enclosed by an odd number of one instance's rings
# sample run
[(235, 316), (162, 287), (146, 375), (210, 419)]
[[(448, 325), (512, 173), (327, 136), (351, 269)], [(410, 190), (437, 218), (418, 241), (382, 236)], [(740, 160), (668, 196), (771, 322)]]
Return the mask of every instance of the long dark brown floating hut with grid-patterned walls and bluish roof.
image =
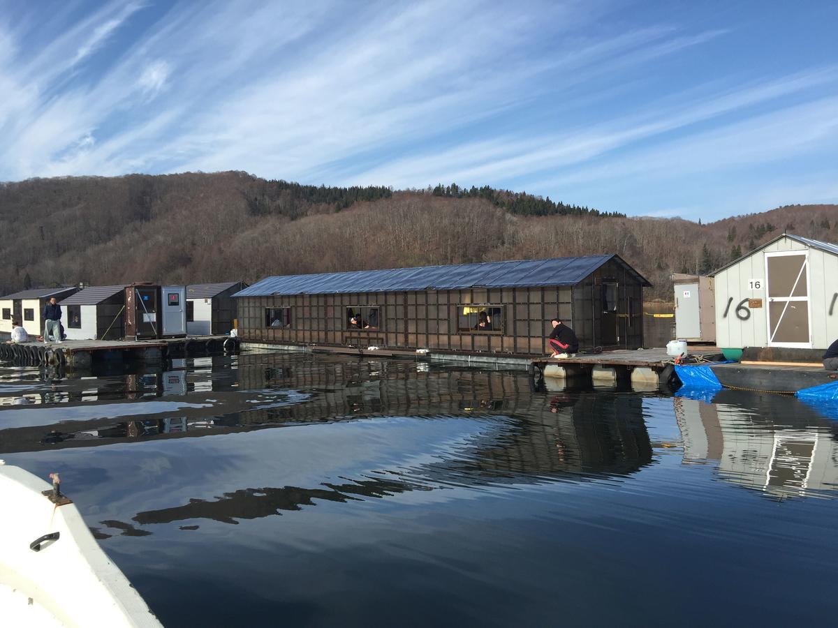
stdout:
[(541, 355), (553, 317), (581, 348), (642, 347), (644, 286), (586, 255), (267, 277), (235, 297), (245, 342)]

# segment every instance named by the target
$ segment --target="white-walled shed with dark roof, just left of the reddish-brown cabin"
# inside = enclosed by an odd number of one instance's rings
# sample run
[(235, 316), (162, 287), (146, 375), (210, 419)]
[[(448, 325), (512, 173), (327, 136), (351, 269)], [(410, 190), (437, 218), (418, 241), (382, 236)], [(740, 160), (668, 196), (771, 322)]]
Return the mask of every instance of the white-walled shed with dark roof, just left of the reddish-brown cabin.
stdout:
[(125, 285), (90, 286), (61, 301), (68, 340), (120, 340), (125, 337)]

